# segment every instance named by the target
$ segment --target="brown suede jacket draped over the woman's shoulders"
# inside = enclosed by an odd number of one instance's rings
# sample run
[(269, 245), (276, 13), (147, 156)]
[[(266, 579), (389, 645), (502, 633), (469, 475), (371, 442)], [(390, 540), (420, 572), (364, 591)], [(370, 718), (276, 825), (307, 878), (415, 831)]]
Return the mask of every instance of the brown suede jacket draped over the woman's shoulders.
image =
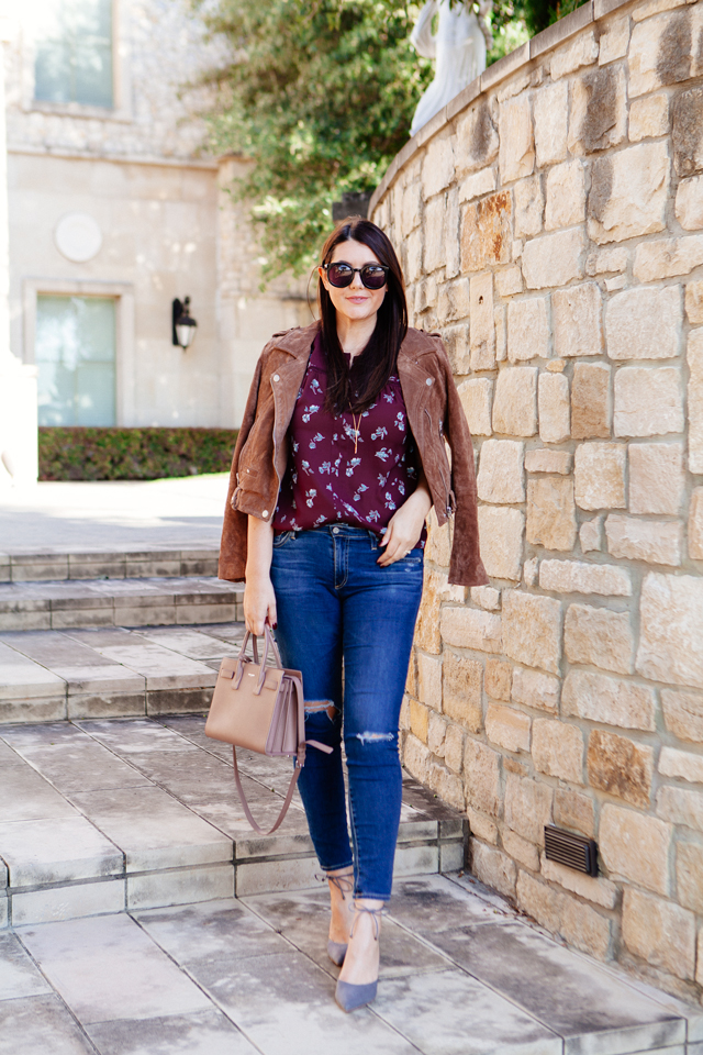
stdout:
[[(244, 578), (247, 514), (270, 521), (286, 466), (288, 427), (302, 384), (314, 322), (277, 333), (256, 366), (232, 459), (220, 547), (220, 578)], [(483, 586), (488, 576), (479, 553), (473, 447), (451, 367), (437, 334), (409, 330), (398, 356), (408, 420), (442, 525), (455, 518), (449, 582)], [(445, 446), (451, 448), (451, 467)]]

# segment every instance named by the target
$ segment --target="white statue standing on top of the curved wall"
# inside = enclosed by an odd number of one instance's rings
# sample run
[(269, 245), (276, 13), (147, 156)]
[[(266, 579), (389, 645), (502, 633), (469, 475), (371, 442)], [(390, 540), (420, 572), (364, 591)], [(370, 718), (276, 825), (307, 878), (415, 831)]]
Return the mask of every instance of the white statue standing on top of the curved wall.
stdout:
[[(486, 14), (491, 0), (481, 0), (479, 18), (470, 2), (428, 0), (411, 34), (411, 43), (423, 58), (436, 59), (435, 79), (417, 103), (410, 134), (414, 135), (450, 99), (486, 69), (486, 45), (492, 44)], [(436, 34), (432, 20), (439, 14)], [(480, 20), (480, 21), (479, 21)]]

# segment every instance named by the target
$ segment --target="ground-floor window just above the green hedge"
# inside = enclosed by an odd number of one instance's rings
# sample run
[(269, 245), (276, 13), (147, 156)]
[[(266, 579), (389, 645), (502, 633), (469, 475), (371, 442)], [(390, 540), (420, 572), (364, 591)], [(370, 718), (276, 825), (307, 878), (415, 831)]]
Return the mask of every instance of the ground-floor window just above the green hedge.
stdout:
[(114, 425), (115, 302), (36, 300), (40, 425)]

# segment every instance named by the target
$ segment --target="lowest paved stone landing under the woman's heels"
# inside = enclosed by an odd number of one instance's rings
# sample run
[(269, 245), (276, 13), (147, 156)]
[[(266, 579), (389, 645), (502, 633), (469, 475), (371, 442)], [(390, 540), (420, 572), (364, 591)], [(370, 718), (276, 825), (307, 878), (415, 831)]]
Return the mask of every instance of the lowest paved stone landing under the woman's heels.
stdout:
[(555, 944), (466, 877), (395, 884), (379, 995), (345, 1015), (323, 890), (0, 936), (7, 1055), (700, 1055), (703, 1013)]

